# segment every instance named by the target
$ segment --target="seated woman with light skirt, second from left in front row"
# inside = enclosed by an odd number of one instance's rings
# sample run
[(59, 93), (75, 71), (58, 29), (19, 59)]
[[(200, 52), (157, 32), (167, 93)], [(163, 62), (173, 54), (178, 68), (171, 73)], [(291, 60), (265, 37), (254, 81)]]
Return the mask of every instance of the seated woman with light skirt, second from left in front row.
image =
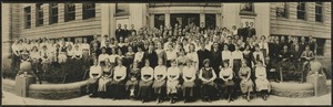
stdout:
[(102, 98), (105, 98), (107, 95), (111, 96), (110, 92), (108, 92), (108, 84), (111, 83), (111, 81), (112, 81), (111, 76), (113, 74), (113, 68), (110, 64), (110, 61), (107, 58), (104, 62), (105, 62), (105, 65), (102, 66), (102, 76), (99, 79), (99, 89), (98, 89), (98, 92), (100, 94), (99, 96)]

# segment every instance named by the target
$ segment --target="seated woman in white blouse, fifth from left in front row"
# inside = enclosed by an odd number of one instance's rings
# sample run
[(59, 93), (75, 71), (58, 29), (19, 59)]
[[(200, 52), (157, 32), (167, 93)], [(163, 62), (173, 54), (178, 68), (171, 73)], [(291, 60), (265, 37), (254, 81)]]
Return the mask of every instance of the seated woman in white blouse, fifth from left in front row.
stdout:
[(141, 68), (141, 81), (139, 82), (139, 96), (142, 99), (142, 103), (145, 103), (151, 98), (151, 86), (153, 84), (154, 72), (150, 67), (149, 60), (145, 60), (144, 67)]

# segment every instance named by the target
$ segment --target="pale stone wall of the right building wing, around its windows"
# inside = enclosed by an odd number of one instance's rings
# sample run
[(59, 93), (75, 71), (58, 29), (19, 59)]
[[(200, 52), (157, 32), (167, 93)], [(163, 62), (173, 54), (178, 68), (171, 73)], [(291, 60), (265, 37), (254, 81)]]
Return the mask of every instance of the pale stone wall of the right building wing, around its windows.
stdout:
[(297, 35), (326, 39), (324, 56), (322, 60), (331, 60), (331, 2), (323, 4), (323, 22), (315, 21), (315, 2), (306, 2), (306, 20), (297, 19), (297, 2), (287, 3), (287, 18), (276, 18), (276, 3), (271, 3), (271, 34)]

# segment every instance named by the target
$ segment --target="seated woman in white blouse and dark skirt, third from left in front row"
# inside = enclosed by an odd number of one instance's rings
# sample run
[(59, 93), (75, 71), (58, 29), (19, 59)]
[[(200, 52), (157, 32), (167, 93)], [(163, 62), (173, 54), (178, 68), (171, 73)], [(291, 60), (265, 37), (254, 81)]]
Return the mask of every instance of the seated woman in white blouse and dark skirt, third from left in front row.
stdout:
[(111, 82), (111, 92), (113, 99), (124, 97), (124, 82), (127, 77), (127, 67), (122, 65), (122, 58), (117, 58), (118, 65), (114, 67), (113, 81)]

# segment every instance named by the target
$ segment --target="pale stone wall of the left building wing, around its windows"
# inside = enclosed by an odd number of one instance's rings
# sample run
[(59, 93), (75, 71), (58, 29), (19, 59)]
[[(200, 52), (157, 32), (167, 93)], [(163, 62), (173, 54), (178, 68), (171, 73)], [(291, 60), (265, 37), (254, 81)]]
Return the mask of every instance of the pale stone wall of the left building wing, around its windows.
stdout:
[[(23, 8), (31, 6), (31, 29), (24, 28)], [(82, 20), (82, 3), (75, 3), (75, 20), (64, 22), (64, 3), (58, 3), (58, 23), (49, 24), (49, 3), (43, 7), (43, 25), (36, 26), (36, 3), (21, 4), (19, 9), (21, 38), (61, 38), (101, 34), (101, 7), (95, 4), (95, 18)]]

